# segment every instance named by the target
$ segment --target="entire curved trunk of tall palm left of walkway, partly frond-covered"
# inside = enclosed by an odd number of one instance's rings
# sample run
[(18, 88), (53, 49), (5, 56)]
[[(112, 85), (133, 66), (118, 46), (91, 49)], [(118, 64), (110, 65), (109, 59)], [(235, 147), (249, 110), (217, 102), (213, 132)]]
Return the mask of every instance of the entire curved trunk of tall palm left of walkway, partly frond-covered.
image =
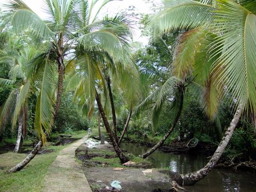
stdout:
[[(62, 60), (61, 60), (62, 61)], [(59, 60), (58, 60), (59, 62)], [(64, 66), (60, 65), (59, 66), (59, 78), (58, 78), (58, 91), (57, 91), (57, 99), (56, 99), (56, 103), (55, 103), (55, 109), (54, 109), (54, 115), (53, 115), (53, 119), (55, 120), (55, 118), (57, 117), (58, 114), (58, 110), (59, 110), (59, 106), (60, 106), (60, 102), (61, 102), (61, 95), (62, 95), (62, 87), (63, 87), (63, 77), (64, 77)], [(46, 134), (46, 133), (45, 133)], [(42, 140), (40, 140), (36, 147), (30, 152), (30, 154), (23, 159), (22, 162), (20, 162), (19, 164), (15, 165), (14, 167), (12, 167), (12, 169), (10, 169), (8, 171), (8, 173), (13, 173), (13, 172), (17, 172), (23, 169), (23, 167), (25, 167), (38, 153), (38, 151), (43, 147), (43, 142)]]

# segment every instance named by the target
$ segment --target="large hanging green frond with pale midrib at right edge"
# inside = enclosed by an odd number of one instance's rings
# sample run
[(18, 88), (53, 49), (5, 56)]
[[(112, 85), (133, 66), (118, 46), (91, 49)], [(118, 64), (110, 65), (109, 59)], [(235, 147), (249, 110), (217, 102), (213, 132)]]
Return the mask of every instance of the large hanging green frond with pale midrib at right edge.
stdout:
[(218, 82), (227, 85), (245, 108), (256, 110), (256, 15), (233, 1), (218, 0), (214, 31), (219, 34), (218, 49), (221, 57), (215, 62), (219, 71)]

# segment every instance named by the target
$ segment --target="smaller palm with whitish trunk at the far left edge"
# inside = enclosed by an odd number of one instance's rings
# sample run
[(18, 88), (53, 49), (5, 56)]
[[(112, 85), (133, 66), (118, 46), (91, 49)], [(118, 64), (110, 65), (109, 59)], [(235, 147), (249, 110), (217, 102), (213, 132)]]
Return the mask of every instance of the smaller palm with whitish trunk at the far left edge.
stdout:
[[(15, 41), (13, 38), (10, 38), (9, 45), (5, 46), (4, 50), (2, 50), (0, 54), (0, 62), (8, 63), (8, 65), (10, 66), (10, 79), (0, 78), (0, 83), (3, 86), (6, 84), (12, 84), (15, 87), (7, 98), (7, 102), (5, 102), (4, 105), (1, 107), (3, 108), (3, 110), (1, 110), (0, 113), (1, 129), (3, 129), (4, 123), (9, 114), (12, 114), (12, 129), (14, 129), (14, 127), (16, 126), (17, 119), (19, 119), (17, 129), (17, 142), (14, 148), (14, 153), (18, 153), (21, 151), (23, 139), (25, 138), (27, 130), (27, 98), (25, 100), (22, 100), (23, 103), (21, 104), (21, 109), (19, 109), (18, 107), (19, 102), (21, 101), (20, 98), (22, 98), (23, 86), (27, 83), (27, 77), (25, 72), (26, 63), (30, 59), (29, 57), (33, 57), (33, 54), (29, 54), (29, 51), (31, 50), (23, 50), (20, 40), (21, 39)], [(14, 111), (12, 111), (12, 109), (14, 109)]]

